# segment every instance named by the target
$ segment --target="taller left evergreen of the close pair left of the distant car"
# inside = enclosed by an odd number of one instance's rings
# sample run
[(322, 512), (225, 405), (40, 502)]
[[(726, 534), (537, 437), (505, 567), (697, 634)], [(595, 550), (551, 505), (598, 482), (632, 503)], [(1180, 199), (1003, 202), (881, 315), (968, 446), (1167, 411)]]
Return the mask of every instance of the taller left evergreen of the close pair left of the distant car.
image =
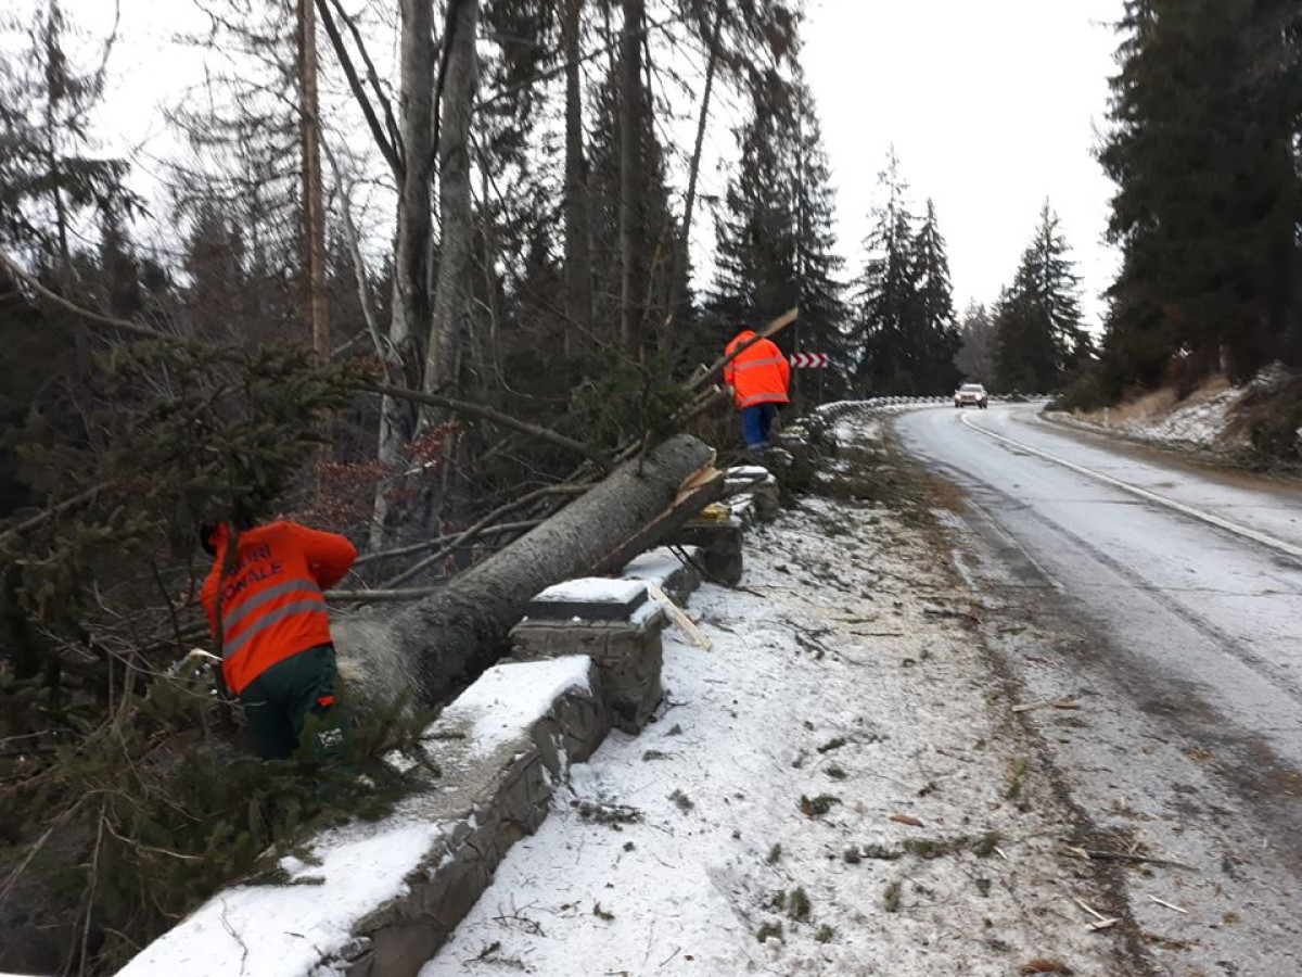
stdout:
[(919, 382), (921, 350), (910, 335), (914, 310), (913, 216), (894, 150), (878, 181), (884, 202), (863, 242), (867, 261), (855, 280), (853, 336), (858, 354), (855, 386), (865, 395), (913, 393)]

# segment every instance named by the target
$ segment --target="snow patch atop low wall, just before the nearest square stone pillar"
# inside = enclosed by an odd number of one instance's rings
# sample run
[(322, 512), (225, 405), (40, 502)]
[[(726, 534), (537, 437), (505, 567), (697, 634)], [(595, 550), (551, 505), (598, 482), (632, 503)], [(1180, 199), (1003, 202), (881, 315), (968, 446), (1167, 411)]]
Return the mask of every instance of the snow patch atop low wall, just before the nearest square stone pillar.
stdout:
[(518, 737), (570, 689), (590, 690), (587, 655), (496, 664), (443, 710), (440, 722), (464, 724), (486, 753)]

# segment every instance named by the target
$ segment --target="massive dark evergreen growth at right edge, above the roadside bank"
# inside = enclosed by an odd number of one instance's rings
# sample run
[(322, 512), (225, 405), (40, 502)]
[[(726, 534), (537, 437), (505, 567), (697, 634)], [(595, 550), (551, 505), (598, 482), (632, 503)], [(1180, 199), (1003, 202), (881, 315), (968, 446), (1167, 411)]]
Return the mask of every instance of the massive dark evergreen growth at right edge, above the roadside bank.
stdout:
[(1295, 3), (1128, 0), (1100, 154), (1117, 184), (1107, 350), (1161, 379), (1177, 352), (1238, 376), (1302, 356), (1295, 154), (1302, 78)]

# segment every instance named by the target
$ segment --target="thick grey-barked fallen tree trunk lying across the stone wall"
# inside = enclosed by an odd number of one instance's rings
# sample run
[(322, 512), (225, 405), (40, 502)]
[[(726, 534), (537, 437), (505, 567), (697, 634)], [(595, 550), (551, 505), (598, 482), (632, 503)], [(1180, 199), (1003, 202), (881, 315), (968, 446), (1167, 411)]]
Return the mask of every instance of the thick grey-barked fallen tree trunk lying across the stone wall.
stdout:
[(713, 457), (691, 435), (671, 438), (419, 603), (388, 617), (341, 619), (340, 671), (367, 700), (414, 689), (422, 702), (439, 702), (503, 653), (535, 594), (615, 569), (716, 499), (723, 475)]

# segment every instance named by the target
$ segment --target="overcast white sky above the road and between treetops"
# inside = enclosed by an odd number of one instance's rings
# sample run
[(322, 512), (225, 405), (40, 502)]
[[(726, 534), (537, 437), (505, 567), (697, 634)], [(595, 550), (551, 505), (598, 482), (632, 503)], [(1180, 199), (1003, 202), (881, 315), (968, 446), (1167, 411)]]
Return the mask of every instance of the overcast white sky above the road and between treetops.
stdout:
[[(20, 16), (38, 1), (9, 0)], [(1092, 150), (1105, 125), (1111, 25), (1121, 7), (809, 0), (802, 60), (832, 163), (848, 274), (862, 263), (878, 172), (893, 143), (918, 207), (927, 197), (936, 203), (960, 309), (970, 298), (997, 297), (1048, 197), (1079, 262), (1087, 320), (1096, 326), (1116, 258), (1103, 242), (1112, 185)], [(64, 0), (64, 8), (89, 38), (112, 26), (109, 0)], [(102, 134), (105, 151), (129, 149), (148, 171), (174, 152), (160, 106), (202, 77), (201, 59), (174, 34), (204, 18), (190, 0), (121, 0), (121, 12)], [(740, 107), (721, 95), (712, 113), (702, 193), (724, 189), (725, 173), (708, 158), (736, 155), (729, 126), (740, 121)], [(690, 150), (690, 141), (680, 149)], [(699, 214), (693, 238), (698, 272), (707, 277), (700, 246), (712, 241), (712, 228), (708, 211)]]

